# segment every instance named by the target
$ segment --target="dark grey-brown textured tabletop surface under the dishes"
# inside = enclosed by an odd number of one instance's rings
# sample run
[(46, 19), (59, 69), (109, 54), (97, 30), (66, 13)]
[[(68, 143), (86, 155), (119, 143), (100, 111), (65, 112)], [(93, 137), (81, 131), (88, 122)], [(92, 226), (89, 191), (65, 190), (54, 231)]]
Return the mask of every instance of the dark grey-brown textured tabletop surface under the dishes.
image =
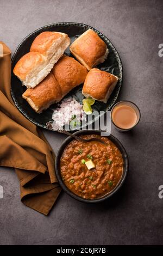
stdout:
[[(112, 134), (129, 155), (129, 174), (121, 191), (99, 205), (79, 203), (62, 192), (45, 217), (20, 202), (19, 183), (10, 168), (0, 168), (0, 245), (163, 244), (162, 64), (163, 1), (0, 0), (0, 40), (15, 51), (35, 29), (53, 22), (83, 22), (115, 45), (123, 63), (119, 100), (141, 110), (132, 132)], [(57, 152), (65, 136), (45, 131)]]

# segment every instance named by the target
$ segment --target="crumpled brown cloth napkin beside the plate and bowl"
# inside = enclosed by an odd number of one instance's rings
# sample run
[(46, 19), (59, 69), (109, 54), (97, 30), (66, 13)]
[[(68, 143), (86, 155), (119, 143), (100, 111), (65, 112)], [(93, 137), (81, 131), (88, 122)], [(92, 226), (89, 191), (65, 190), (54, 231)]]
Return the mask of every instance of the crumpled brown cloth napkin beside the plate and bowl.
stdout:
[(47, 215), (61, 191), (55, 156), (43, 133), (15, 107), (10, 79), (11, 51), (0, 42), (0, 166), (15, 168), (22, 203)]

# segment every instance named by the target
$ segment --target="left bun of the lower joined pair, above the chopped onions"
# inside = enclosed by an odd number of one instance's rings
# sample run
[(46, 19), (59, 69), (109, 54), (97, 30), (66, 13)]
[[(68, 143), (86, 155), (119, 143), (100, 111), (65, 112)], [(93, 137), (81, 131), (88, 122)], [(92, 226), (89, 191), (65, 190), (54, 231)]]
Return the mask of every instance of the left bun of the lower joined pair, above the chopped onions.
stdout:
[(60, 86), (52, 73), (48, 74), (35, 88), (27, 89), (23, 96), (30, 97), (38, 108), (46, 106), (54, 99), (60, 100), (62, 97)]

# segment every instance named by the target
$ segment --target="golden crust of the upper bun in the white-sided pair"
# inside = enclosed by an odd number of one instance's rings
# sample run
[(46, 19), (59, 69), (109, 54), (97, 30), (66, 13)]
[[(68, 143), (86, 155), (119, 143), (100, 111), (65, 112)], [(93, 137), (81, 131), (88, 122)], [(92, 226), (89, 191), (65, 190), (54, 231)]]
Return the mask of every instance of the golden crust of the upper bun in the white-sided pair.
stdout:
[(30, 52), (40, 52), (42, 54), (46, 54), (53, 42), (60, 37), (62, 37), (62, 34), (57, 32), (42, 32), (36, 36), (30, 47)]

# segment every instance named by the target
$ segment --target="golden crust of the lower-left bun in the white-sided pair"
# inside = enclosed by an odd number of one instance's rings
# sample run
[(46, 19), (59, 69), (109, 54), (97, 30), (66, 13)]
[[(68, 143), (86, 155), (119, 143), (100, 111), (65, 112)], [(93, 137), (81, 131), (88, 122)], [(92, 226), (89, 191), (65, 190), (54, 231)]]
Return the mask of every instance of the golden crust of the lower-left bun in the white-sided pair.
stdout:
[(43, 63), (44, 57), (39, 52), (26, 53), (15, 65), (14, 74), (24, 80), (33, 66)]

